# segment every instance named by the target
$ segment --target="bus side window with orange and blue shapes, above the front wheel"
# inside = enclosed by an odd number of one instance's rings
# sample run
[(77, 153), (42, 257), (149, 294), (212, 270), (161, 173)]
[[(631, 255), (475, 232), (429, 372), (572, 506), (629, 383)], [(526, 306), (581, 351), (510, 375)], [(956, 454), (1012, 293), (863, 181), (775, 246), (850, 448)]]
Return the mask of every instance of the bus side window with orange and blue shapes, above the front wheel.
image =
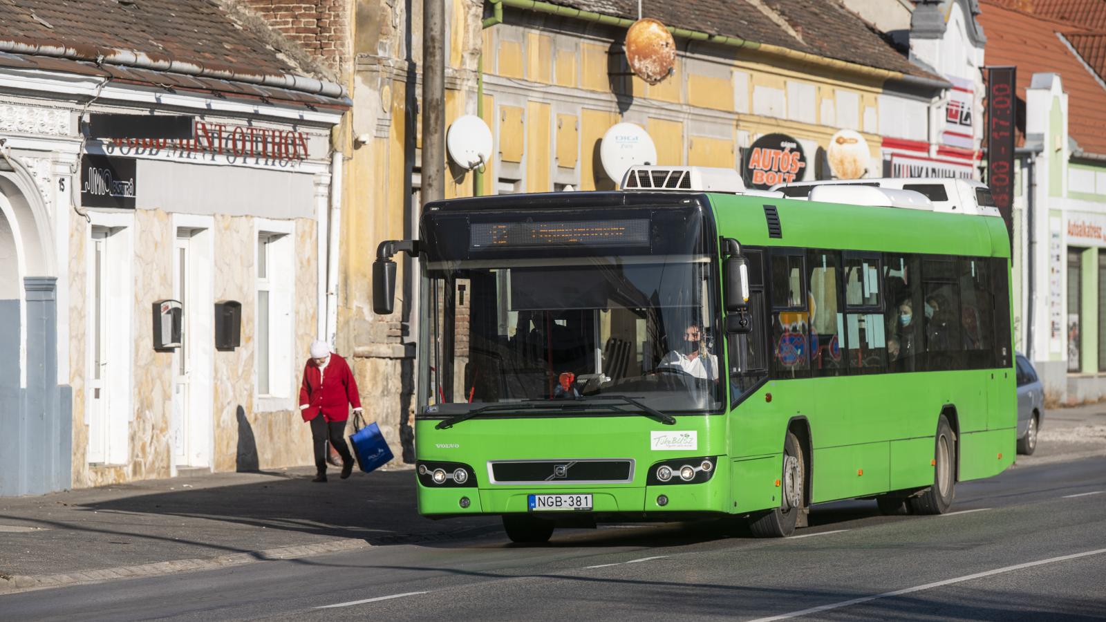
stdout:
[(810, 375), (810, 314), (803, 296), (803, 256), (772, 256), (772, 371), (774, 377)]

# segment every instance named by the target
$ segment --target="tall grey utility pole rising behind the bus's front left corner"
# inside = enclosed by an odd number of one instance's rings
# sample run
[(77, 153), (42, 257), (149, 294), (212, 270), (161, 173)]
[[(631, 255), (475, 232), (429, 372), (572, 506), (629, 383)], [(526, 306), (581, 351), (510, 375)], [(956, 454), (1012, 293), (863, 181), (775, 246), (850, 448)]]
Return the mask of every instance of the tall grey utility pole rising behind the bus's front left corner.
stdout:
[(445, 198), (445, 0), (422, 0), (422, 205)]

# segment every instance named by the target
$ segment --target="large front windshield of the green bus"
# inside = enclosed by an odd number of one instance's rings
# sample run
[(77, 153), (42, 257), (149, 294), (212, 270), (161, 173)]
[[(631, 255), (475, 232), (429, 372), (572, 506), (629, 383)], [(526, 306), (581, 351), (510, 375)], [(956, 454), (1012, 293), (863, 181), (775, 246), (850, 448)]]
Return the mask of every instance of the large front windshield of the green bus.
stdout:
[(676, 413), (722, 405), (706, 255), (430, 261), (426, 274), (420, 413), (542, 401), (547, 416), (617, 396)]

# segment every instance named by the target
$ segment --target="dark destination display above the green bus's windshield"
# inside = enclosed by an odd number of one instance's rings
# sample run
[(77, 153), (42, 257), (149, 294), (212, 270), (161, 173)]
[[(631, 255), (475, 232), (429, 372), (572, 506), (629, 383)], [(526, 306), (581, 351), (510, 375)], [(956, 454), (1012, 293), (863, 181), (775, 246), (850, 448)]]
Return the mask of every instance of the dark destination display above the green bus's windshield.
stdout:
[(648, 246), (649, 220), (560, 220), (551, 222), (474, 222), (471, 250), (543, 246)]

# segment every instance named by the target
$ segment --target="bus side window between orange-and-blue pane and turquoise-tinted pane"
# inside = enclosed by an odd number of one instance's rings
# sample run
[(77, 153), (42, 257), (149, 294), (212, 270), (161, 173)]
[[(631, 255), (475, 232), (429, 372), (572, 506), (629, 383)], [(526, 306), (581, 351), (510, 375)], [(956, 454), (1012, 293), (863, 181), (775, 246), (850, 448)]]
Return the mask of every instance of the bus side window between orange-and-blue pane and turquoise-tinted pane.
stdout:
[(812, 250), (807, 257), (811, 271), (811, 374), (835, 376), (844, 367), (841, 339), (845, 318), (837, 308), (838, 255)]

